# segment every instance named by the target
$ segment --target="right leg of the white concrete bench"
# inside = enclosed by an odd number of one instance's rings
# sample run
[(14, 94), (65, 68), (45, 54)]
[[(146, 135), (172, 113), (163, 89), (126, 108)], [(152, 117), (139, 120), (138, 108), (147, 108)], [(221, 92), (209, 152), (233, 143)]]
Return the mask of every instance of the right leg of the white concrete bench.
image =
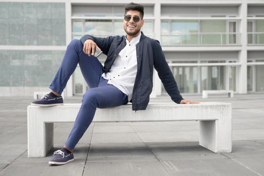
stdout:
[(200, 121), (199, 144), (215, 153), (230, 153), (232, 150), (232, 132), (230, 124), (219, 120)]

